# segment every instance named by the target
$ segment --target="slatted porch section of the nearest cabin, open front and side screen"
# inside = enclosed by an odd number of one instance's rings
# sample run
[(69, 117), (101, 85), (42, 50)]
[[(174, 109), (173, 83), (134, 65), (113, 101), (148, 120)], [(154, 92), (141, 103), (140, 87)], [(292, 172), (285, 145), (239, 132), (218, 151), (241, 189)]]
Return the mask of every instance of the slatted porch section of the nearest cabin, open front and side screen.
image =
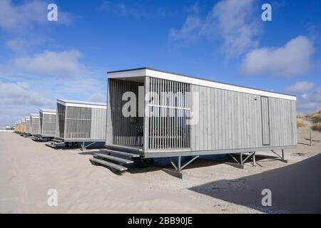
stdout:
[(106, 144), (145, 151), (190, 150), (189, 92), (188, 83), (144, 76), (109, 78)]

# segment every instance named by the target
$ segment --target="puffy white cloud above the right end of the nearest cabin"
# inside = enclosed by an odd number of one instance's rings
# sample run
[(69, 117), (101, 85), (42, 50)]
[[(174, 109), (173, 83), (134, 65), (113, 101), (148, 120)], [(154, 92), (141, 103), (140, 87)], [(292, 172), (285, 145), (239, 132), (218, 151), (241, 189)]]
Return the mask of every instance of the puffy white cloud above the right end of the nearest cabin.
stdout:
[(305, 36), (293, 38), (280, 48), (258, 48), (243, 59), (240, 71), (245, 75), (272, 73), (278, 76), (293, 76), (310, 70), (310, 57), (314, 51), (311, 41)]

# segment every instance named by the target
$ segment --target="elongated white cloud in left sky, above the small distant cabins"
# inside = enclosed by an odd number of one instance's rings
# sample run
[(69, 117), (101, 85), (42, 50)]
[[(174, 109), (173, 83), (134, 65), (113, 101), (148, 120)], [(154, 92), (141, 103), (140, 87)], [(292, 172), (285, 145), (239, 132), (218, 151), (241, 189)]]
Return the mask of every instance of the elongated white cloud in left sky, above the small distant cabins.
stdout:
[(79, 62), (80, 51), (44, 51), (31, 57), (16, 58), (12, 64), (25, 72), (39, 76), (76, 76), (86, 71), (86, 67)]

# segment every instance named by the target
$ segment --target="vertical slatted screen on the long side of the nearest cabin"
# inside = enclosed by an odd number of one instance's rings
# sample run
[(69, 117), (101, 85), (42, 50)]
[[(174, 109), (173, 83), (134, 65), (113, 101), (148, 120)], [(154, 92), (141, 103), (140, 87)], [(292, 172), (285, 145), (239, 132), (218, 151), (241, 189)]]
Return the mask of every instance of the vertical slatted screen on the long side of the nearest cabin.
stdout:
[[(188, 83), (150, 78), (149, 137), (150, 150), (190, 148), (190, 127), (187, 115)], [(156, 98), (158, 97), (158, 98)]]

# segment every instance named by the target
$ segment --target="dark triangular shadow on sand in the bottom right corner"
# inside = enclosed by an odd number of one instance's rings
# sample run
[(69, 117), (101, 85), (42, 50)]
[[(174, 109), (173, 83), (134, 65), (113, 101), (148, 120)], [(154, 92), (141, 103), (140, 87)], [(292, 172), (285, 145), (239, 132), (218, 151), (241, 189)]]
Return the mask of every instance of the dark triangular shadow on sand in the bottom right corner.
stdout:
[[(272, 207), (263, 207), (262, 190), (272, 192)], [(321, 155), (293, 165), (235, 180), (191, 187), (200, 194), (272, 213), (321, 212)]]

